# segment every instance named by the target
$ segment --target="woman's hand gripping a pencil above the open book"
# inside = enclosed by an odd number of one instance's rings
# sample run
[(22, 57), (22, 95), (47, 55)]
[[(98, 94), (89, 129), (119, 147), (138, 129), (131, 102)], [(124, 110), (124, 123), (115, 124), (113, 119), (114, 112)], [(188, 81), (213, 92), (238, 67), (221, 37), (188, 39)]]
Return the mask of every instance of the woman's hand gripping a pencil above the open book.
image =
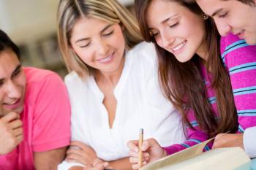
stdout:
[[(129, 141), (127, 146), (129, 147), (129, 162), (132, 163), (132, 169), (138, 169), (138, 141)], [(144, 140), (141, 150), (143, 151), (143, 165), (167, 155), (155, 139)]]

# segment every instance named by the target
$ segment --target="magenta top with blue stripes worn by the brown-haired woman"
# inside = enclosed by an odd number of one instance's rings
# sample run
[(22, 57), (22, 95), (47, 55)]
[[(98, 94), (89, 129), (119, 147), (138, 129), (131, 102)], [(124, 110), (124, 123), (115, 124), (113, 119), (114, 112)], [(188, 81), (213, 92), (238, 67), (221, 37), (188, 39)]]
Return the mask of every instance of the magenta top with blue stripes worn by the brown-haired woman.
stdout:
[[(221, 39), (221, 54), (233, 88), (239, 123), (237, 133), (244, 133), (246, 128), (256, 125), (256, 45), (247, 45), (244, 39), (229, 34)], [(204, 67), (201, 71), (206, 81), (208, 101), (217, 111), (216, 97), (214, 90), (210, 88), (208, 72)], [(168, 155), (208, 139), (208, 135), (198, 127), (193, 112), (188, 113), (188, 118), (195, 130), (187, 127), (186, 142), (164, 147)], [(210, 147), (206, 146), (205, 150), (210, 150)]]

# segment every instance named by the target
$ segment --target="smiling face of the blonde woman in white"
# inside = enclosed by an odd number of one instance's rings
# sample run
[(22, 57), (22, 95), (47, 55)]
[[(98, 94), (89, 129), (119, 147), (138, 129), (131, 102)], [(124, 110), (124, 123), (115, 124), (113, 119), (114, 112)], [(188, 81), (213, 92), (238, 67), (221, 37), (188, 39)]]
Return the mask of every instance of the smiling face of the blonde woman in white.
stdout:
[(72, 50), (91, 68), (103, 74), (124, 66), (125, 41), (121, 26), (96, 18), (80, 18), (72, 29)]

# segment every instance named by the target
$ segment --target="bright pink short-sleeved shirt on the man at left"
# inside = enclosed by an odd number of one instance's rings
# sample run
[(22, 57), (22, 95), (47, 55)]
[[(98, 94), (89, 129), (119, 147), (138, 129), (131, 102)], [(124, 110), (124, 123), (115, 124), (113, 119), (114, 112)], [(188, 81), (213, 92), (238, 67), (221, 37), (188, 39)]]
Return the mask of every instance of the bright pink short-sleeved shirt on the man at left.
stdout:
[(33, 170), (33, 152), (69, 145), (70, 107), (61, 78), (50, 71), (24, 68), (26, 96), (23, 112), (24, 139), (15, 150), (0, 155), (0, 170)]

